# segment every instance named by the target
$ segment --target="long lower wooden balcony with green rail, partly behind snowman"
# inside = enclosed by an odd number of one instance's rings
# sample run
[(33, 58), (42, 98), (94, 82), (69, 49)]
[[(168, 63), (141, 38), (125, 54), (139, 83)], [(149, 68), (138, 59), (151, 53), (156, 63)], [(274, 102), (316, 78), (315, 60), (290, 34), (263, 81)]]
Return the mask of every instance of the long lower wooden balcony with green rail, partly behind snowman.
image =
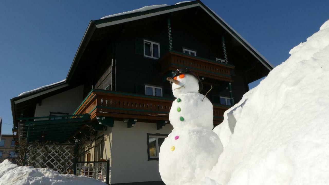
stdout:
[[(173, 100), (158, 96), (92, 89), (74, 114), (90, 114), (91, 119), (111, 117), (112, 120), (119, 121), (138, 119), (138, 122), (158, 123), (160, 120), (169, 121), (168, 113)], [(215, 124), (223, 120), (223, 113), (228, 108), (226, 105), (214, 105)]]

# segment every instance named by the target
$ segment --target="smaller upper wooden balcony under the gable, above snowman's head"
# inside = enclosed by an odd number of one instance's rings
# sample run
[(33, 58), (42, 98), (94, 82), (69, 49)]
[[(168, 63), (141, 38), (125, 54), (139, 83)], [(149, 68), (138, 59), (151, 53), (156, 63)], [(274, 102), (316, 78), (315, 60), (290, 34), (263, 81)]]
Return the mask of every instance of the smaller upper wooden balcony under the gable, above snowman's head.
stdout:
[(169, 70), (188, 68), (200, 77), (220, 81), (233, 81), (231, 78), (231, 70), (234, 69), (234, 65), (199, 58), (175, 51), (169, 51), (159, 60), (159, 62), (162, 70), (161, 74), (165, 74)]

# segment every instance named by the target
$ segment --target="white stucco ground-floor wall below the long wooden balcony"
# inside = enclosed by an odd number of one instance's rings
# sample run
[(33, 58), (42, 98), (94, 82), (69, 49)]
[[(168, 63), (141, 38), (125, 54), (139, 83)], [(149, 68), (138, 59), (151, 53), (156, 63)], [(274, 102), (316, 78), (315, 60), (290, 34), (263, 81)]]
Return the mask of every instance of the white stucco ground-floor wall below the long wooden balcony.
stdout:
[[(111, 183), (129, 183), (161, 180), (159, 161), (147, 161), (147, 133), (169, 134), (173, 127), (157, 130), (155, 123), (127, 123), (115, 121), (112, 128)], [(108, 149), (107, 149), (108, 150)]]

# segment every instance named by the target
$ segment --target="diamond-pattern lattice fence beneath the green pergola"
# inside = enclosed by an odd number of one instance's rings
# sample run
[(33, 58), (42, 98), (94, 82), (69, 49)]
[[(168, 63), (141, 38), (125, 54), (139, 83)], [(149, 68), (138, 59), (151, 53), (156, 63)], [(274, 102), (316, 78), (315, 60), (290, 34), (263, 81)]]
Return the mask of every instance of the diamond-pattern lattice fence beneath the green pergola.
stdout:
[(73, 173), (74, 145), (29, 145), (27, 164), (35, 168), (50, 168), (62, 174)]

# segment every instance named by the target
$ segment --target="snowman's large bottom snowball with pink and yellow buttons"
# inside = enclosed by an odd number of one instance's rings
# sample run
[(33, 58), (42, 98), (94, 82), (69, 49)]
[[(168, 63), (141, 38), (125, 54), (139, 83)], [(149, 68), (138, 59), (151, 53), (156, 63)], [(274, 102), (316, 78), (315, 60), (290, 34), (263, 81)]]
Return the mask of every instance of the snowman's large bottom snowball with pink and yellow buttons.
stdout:
[[(175, 136), (179, 138), (176, 140)], [(215, 166), (222, 151), (223, 146), (211, 129), (174, 129), (160, 148), (161, 178), (166, 185), (197, 183)]]

